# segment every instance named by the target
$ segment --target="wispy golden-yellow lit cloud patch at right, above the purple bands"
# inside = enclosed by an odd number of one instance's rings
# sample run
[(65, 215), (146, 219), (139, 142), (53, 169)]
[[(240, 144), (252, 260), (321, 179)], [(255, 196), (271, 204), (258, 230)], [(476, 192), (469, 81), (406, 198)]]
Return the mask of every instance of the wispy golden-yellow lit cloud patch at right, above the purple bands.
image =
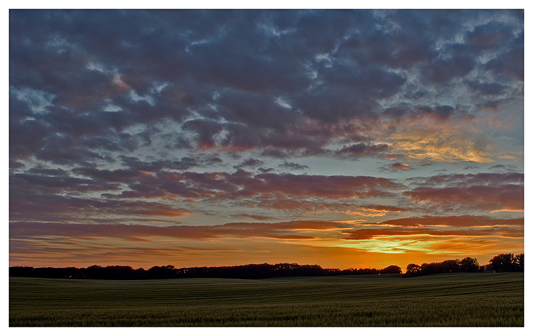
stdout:
[(486, 115), (478, 106), (486, 103), (476, 98), (455, 107), (397, 104), (384, 109), (372, 137), (388, 144), (386, 155), (408, 160), (493, 163), (509, 150), (501, 138), (485, 132), (485, 125), (507, 133), (516, 118)]

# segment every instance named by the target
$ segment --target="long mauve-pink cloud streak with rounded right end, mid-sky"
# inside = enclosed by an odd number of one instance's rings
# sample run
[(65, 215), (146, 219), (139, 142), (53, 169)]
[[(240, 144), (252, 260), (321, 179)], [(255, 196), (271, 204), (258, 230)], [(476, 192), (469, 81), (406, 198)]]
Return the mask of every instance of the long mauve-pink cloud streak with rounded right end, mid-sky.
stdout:
[(77, 169), (76, 172), (84, 175), (94, 174), (102, 181), (128, 183), (131, 191), (124, 191), (123, 197), (145, 197), (144, 191), (157, 190), (162, 194), (189, 198), (231, 199), (259, 195), (284, 195), (340, 199), (383, 196), (388, 195), (389, 190), (396, 190), (400, 187), (397, 183), (381, 177), (273, 173), (253, 176), (243, 170), (237, 170), (233, 174), (162, 171), (155, 175), (124, 170)]

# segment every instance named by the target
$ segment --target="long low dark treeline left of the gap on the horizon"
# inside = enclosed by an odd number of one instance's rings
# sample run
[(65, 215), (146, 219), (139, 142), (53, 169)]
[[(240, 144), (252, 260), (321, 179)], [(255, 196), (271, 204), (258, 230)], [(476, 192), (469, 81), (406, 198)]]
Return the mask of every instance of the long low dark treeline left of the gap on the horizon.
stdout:
[(148, 270), (133, 269), (131, 266), (98, 266), (87, 268), (54, 268), (54, 267), (10, 267), (9, 276), (37, 278), (69, 278), (69, 279), (174, 279), (174, 278), (239, 278), (266, 279), (275, 277), (329, 276), (354, 274), (400, 274), (401, 268), (395, 265), (384, 269), (360, 268), (345, 269), (322, 268), (319, 265), (298, 264), (249, 264), (242, 266), (222, 267), (189, 267), (174, 268), (172, 265), (154, 266)]

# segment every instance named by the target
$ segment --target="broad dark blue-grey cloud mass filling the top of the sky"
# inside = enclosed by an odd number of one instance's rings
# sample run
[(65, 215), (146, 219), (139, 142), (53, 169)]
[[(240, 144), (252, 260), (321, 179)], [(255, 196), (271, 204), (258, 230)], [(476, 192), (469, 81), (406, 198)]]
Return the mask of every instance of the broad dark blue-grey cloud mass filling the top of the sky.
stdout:
[[(300, 116), (333, 123), (374, 117), (376, 101), (406, 84), (391, 69), (418, 70), (426, 81), (446, 83), (479, 66), (480, 52), (508, 46), (485, 68), (523, 78), (523, 35), (512, 40), (513, 28), (496, 21), (472, 31), (461, 26), (502, 13), (12, 10), (10, 85), (54, 95), (53, 113), (42, 118), (55, 132), (102, 136), (165, 118), (181, 122), (193, 109), (236, 123), (189, 123), (201, 142), (212, 144), (224, 128), (234, 139), (228, 142), (269, 145), (261, 134), (283, 135)], [(464, 42), (442, 44), (461, 33)], [(407, 99), (427, 93), (410, 91)], [(132, 92), (145, 99), (132, 99)], [(275, 103), (281, 96), (289, 111)], [(14, 100), (12, 109), (22, 112)], [(110, 104), (120, 110), (105, 112)]]

